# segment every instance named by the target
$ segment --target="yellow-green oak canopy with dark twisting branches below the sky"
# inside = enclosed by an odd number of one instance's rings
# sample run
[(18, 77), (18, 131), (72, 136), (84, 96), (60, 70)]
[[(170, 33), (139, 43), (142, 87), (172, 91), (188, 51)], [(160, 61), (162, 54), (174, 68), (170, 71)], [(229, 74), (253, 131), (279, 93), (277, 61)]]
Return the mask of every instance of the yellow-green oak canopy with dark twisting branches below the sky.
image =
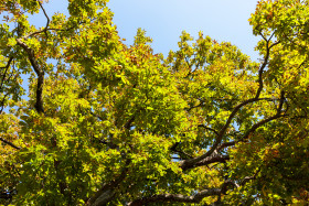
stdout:
[(308, 204), (309, 1), (257, 3), (259, 62), (202, 32), (127, 45), (106, 2), (0, 2), (0, 204)]

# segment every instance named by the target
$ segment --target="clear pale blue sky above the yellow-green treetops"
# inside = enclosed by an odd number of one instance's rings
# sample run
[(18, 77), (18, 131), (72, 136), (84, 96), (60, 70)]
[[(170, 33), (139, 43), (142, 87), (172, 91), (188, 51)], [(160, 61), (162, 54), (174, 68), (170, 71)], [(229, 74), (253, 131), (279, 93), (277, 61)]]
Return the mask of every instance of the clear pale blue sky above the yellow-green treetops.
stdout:
[[(257, 59), (254, 47), (258, 37), (252, 34), (247, 21), (256, 3), (257, 0), (110, 0), (108, 7), (127, 44), (132, 44), (137, 29), (141, 28), (153, 39), (154, 52), (166, 56), (170, 50), (177, 50), (183, 30), (192, 36), (203, 31), (204, 35), (231, 42), (252, 59)], [(66, 7), (67, 1), (50, 0), (45, 10), (51, 17), (55, 11), (67, 13)], [(31, 20), (41, 26), (46, 23), (42, 13)]]

